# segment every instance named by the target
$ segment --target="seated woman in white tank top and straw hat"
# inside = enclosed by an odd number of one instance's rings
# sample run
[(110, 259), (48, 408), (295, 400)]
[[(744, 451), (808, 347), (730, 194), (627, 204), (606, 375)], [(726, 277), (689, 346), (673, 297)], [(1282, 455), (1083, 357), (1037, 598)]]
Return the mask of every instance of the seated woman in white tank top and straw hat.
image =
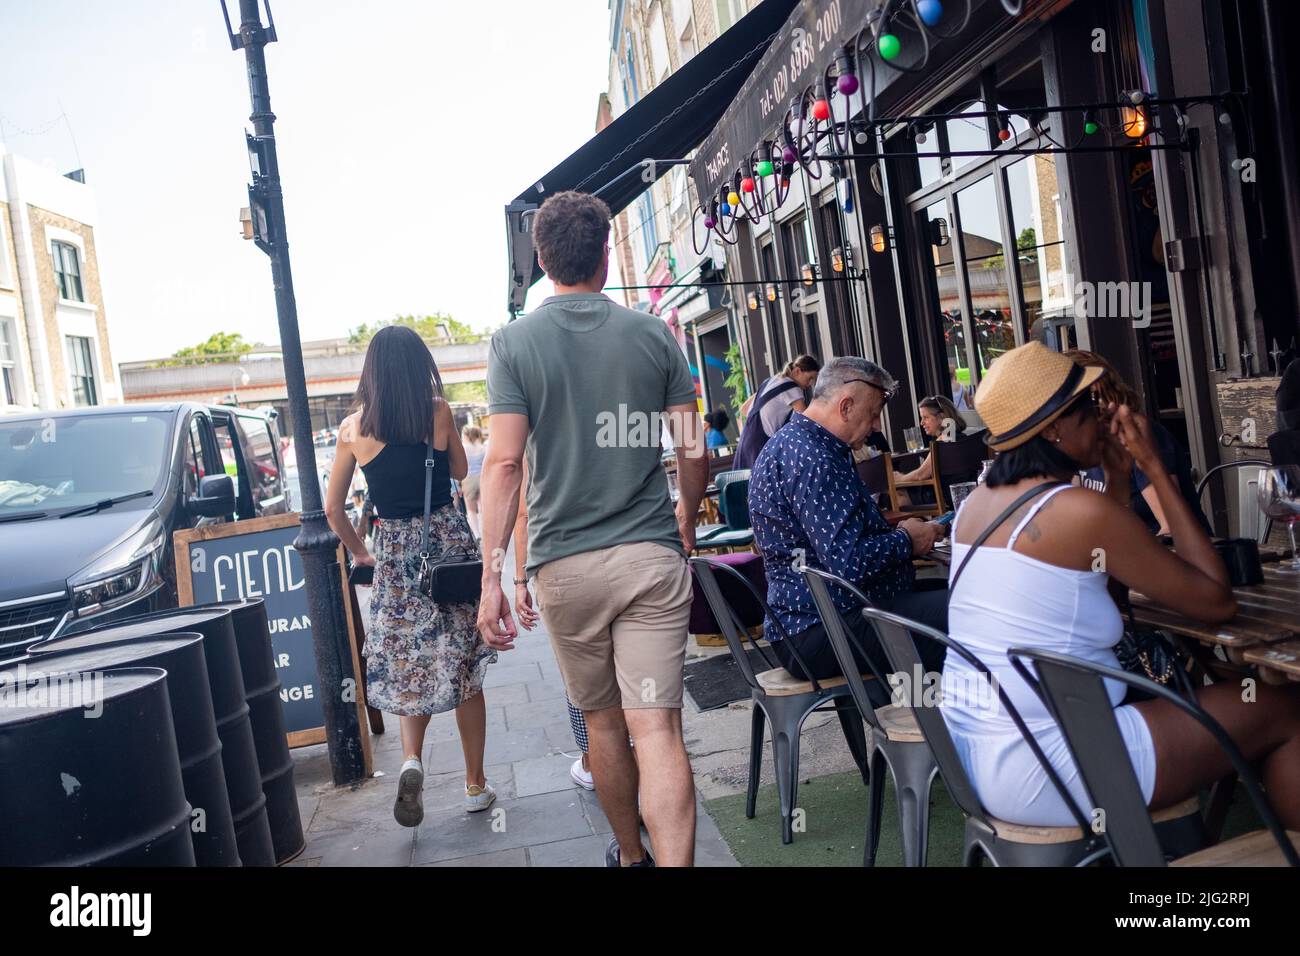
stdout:
[[(1118, 666), (1123, 622), (1109, 587), (1141, 591), (1180, 613), (1221, 623), (1236, 611), (1227, 572), (1161, 462), (1149, 423), (1127, 407), (1096, 407), (1091, 386), (1101, 369), (1082, 368), (1031, 342), (993, 363), (975, 395), (997, 460), (963, 502), (953, 527), (948, 626), (993, 674), (1024, 718), (1075, 803), (1089, 801), (1056, 722), (1011, 669), (1006, 650), (1035, 646)], [(1152, 479), (1170, 519), (1175, 551), (1164, 548), (1130, 510), (1126, 480), (1115, 496), (1070, 485), (1079, 467), (1101, 464), (1127, 476), (1132, 462)], [(1058, 481), (1023, 503), (970, 561), (970, 544), (1017, 498)], [(1121, 494), (1123, 501), (1121, 501)], [(985, 809), (1017, 823), (1069, 826), (1072, 816), (1037, 760), (983, 684), (956, 654), (944, 667), (944, 719)], [(1108, 682), (1115, 719), (1148, 805), (1170, 806), (1226, 775), (1227, 757), (1209, 734), (1174, 705), (1122, 704)], [(993, 697), (996, 700), (996, 697)], [(1201, 688), (1197, 701), (1234, 737), (1261, 778), (1278, 817), (1300, 829), (1300, 687), (1261, 684), (1252, 702), (1231, 683)]]

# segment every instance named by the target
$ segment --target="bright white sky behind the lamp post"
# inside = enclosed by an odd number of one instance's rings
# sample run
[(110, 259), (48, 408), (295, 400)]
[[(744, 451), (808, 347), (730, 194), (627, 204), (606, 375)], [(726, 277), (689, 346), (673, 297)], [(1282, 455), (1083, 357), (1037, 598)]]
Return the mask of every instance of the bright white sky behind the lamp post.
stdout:
[[(303, 338), (399, 313), (503, 321), (502, 209), (594, 134), (608, 0), (272, 0), (272, 12)], [(116, 362), (213, 332), (278, 342), (270, 265), (238, 221), (250, 109), (220, 0), (0, 0), (5, 144), (86, 169)], [(52, 122), (60, 113), (68, 124)]]

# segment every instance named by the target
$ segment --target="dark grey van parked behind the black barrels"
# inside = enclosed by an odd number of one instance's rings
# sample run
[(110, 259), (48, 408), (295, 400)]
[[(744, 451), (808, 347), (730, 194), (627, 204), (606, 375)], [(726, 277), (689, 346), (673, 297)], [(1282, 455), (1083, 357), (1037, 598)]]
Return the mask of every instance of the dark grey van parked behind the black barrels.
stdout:
[(0, 659), (177, 604), (172, 532), (289, 510), (274, 416), (198, 403), (0, 418)]

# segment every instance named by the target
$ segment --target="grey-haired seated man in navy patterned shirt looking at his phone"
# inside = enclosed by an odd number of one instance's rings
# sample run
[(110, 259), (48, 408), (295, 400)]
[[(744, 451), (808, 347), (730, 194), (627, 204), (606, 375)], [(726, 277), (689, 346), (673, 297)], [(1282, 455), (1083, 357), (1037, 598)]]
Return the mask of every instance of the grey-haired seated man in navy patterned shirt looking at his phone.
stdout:
[[(818, 375), (807, 410), (792, 415), (767, 442), (750, 473), (749, 516), (767, 572), (767, 601), (812, 672), (798, 666), (771, 620), (763, 622), (764, 637), (781, 666), (803, 680), (837, 678), (840, 666), (812, 594), (792, 567), (800, 553), (809, 566), (861, 587), (880, 607), (939, 630), (948, 626), (948, 592), (918, 591), (911, 564), (946, 532), (916, 518), (892, 529), (853, 466), (852, 450), (879, 428), (894, 388), (893, 377), (872, 362), (831, 359)], [(842, 588), (832, 587), (831, 594), (857, 637), (855, 649), (866, 649), (878, 669), (888, 672), (875, 631), (857, 613), (857, 601)], [(866, 661), (862, 672), (870, 672)]]

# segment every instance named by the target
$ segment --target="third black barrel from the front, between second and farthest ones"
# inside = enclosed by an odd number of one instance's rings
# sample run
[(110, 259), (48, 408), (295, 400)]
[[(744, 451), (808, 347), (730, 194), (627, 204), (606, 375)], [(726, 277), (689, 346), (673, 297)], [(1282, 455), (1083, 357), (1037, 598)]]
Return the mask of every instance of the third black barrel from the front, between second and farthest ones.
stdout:
[[(226, 793), (235, 822), (235, 842), (239, 860), (244, 866), (274, 866), (276, 852), (270, 842), (266, 821), (266, 797), (261, 792), (261, 770), (257, 767), (257, 748), (248, 722), (248, 704), (244, 700), (243, 675), (239, 671), (239, 652), (235, 648), (235, 628), (230, 611), (225, 607), (177, 607), (168, 611), (131, 618), (129, 624), (138, 636), (160, 636), (195, 631), (203, 635), (203, 657), (208, 665), (208, 687), (212, 691), (212, 713), (221, 737), (221, 766), (226, 774)], [(103, 644), (120, 644), (114, 630), (75, 631), (52, 640), (34, 644), (30, 654), (48, 654), (55, 650), (74, 650)], [(134, 640), (134, 639), (129, 639)]]

